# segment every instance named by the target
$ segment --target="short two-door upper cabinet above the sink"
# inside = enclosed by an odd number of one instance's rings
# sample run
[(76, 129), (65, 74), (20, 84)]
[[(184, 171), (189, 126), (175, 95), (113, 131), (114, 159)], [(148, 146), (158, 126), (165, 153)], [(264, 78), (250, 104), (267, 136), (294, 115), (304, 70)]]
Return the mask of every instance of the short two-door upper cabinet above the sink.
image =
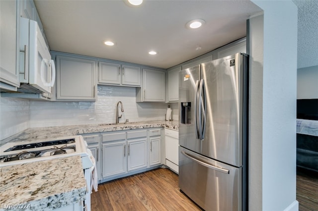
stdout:
[(98, 84), (140, 87), (141, 67), (99, 60)]

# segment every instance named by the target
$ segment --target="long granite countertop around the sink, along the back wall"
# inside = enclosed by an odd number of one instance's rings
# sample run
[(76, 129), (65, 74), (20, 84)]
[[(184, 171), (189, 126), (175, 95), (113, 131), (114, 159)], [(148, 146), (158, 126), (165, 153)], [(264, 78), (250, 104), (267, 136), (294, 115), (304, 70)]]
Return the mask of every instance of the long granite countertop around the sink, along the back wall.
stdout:
[(85, 133), (98, 133), (116, 130), (130, 130), (153, 127), (166, 127), (178, 130), (178, 121), (140, 121), (120, 124), (86, 124), (86, 125), (66, 125), (56, 127), (28, 128), (20, 133), (1, 140), (0, 146), (8, 142), (22, 142), (39, 139), (50, 139), (64, 136), (75, 136)]

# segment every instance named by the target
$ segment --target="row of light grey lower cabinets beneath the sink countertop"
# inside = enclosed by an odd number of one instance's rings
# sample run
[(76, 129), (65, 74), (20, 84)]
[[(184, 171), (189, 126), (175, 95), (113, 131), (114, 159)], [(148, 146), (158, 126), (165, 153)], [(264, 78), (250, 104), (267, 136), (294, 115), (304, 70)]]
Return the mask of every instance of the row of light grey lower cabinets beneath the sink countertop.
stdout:
[(129, 176), (162, 164), (161, 133), (162, 128), (149, 128), (82, 134), (96, 160), (98, 181)]

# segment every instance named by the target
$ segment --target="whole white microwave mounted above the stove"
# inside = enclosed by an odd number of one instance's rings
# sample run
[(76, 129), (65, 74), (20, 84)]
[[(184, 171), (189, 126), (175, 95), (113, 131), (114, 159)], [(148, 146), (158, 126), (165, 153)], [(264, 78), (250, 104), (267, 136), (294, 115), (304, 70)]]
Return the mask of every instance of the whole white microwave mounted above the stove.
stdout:
[(51, 97), (55, 64), (36, 21), (20, 17), (20, 89)]

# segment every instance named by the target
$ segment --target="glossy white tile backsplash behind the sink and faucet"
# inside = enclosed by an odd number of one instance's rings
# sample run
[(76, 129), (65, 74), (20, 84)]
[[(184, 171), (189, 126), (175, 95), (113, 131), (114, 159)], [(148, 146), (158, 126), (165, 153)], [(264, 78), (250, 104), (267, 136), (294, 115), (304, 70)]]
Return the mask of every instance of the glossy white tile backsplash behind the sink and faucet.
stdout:
[(13, 98), (0, 100), (0, 140), (29, 127), (49, 127), (77, 124), (114, 123), (116, 105), (119, 106), (119, 122), (163, 120), (167, 105), (172, 108), (173, 119), (178, 119), (178, 104), (136, 103), (136, 88), (119, 86), (98, 86), (96, 102), (50, 102), (29, 101)]

